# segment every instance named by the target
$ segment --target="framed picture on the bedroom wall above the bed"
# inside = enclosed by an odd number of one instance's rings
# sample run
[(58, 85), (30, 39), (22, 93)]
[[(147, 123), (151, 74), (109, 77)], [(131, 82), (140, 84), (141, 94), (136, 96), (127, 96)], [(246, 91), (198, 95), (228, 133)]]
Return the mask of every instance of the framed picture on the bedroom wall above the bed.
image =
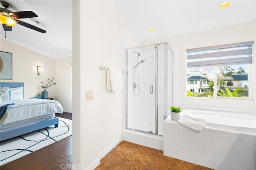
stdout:
[(12, 79), (12, 53), (0, 51), (0, 79)]

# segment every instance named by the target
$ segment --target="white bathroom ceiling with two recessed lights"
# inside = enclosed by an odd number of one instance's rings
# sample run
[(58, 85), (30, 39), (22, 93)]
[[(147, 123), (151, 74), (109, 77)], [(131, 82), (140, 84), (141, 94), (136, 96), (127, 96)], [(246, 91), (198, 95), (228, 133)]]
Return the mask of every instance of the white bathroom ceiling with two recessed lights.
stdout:
[[(114, 4), (141, 41), (208, 30), (256, 20), (255, 0), (115, 1)], [(148, 32), (154, 27), (154, 32)]]

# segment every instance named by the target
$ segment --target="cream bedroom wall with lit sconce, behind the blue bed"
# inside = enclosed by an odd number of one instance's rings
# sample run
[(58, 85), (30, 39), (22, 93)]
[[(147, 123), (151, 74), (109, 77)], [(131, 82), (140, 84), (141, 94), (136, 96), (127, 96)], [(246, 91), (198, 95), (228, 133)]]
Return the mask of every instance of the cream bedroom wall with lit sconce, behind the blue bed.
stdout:
[[(1, 82), (24, 82), (24, 98), (41, 95), (43, 89), (40, 82), (46, 84), (47, 79), (55, 78), (55, 59), (2, 38), (0, 50), (12, 53), (12, 80), (1, 79)], [(41, 75), (37, 75), (37, 65), (42, 68)], [(57, 82), (48, 88), (48, 97), (55, 98), (55, 88), (60, 86), (61, 84)]]

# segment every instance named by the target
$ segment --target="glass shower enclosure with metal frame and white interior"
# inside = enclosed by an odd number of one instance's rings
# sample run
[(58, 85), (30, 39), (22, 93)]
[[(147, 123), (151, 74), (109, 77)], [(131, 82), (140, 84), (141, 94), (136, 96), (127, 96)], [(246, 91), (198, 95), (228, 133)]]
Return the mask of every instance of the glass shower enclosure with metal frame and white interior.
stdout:
[(173, 101), (173, 53), (167, 42), (125, 49), (126, 128), (164, 134)]

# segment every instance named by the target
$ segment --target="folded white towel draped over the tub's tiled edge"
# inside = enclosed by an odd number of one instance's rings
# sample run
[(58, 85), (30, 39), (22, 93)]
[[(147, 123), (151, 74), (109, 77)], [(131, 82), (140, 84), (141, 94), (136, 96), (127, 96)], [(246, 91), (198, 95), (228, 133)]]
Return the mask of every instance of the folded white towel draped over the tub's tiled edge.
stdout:
[(190, 113), (182, 113), (177, 121), (180, 125), (187, 127), (195, 132), (202, 132), (206, 125), (206, 118), (197, 117)]

